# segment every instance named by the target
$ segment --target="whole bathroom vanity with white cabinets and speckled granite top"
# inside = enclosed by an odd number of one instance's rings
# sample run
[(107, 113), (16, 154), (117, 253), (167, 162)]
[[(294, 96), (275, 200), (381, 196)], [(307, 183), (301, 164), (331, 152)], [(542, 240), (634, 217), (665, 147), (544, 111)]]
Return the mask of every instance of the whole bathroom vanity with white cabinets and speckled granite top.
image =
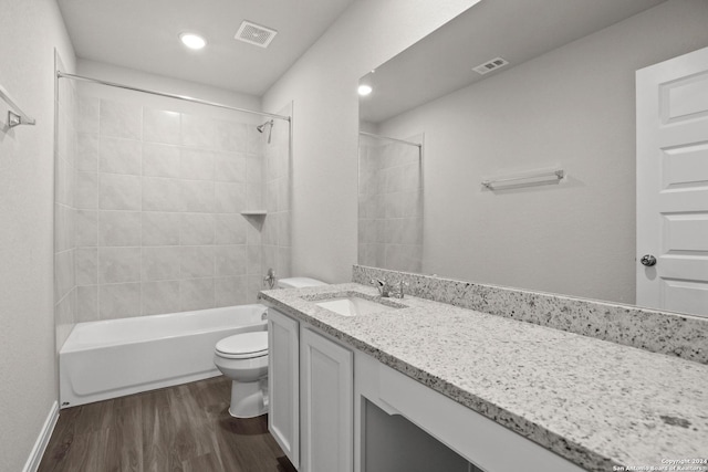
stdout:
[(429, 448), (397, 440), (413, 426), (448, 451), (428, 470), (707, 465), (704, 364), (357, 283), (261, 296), (269, 427), (301, 472), (386, 470), (385, 448)]

